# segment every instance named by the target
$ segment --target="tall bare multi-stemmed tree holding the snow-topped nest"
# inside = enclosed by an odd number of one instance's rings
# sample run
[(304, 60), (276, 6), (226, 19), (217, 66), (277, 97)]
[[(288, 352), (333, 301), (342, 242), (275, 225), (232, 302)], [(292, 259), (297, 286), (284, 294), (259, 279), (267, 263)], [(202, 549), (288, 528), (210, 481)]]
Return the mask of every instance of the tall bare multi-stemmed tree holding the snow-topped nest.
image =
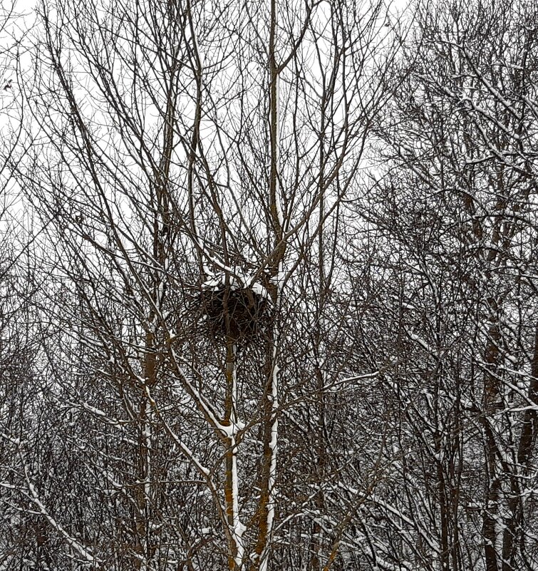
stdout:
[(38, 12), (9, 164), (53, 264), (39, 433), (62, 435), (48, 455), (70, 468), (41, 485), (18, 468), (63, 545), (48, 565), (267, 570), (306, 548), (312, 568), (342, 567), (386, 463), (380, 436), (336, 510), (335, 250), (389, 93), (381, 3)]

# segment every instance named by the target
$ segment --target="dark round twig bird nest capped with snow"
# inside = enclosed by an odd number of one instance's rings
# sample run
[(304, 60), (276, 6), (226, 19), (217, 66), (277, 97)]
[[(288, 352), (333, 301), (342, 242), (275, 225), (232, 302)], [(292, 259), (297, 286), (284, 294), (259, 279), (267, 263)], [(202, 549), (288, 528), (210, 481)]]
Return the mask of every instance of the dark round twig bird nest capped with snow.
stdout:
[(260, 284), (243, 287), (234, 280), (202, 284), (199, 307), (212, 336), (234, 342), (248, 342), (262, 334), (272, 314), (267, 289)]

